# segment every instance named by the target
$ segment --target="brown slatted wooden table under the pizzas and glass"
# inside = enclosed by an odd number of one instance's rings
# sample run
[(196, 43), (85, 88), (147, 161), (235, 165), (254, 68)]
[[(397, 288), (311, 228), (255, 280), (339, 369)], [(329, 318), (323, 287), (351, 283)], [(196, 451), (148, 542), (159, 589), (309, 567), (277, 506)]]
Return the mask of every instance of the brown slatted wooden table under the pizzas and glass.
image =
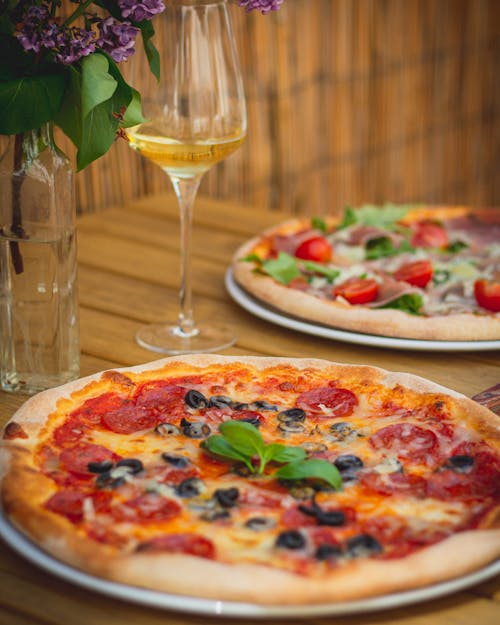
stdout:
[[(224, 273), (236, 247), (282, 219), (279, 213), (198, 199), (194, 228), (195, 316), (227, 320), (238, 335), (229, 354), (312, 356), (416, 373), (474, 395), (500, 381), (499, 352), (411, 352), (298, 334), (253, 317), (229, 298)], [(174, 319), (178, 289), (178, 213), (171, 195), (85, 215), (78, 223), (82, 375), (156, 357), (134, 341), (143, 322)], [(0, 393), (0, 423), (24, 397)], [(0, 543), (0, 625), (213, 625), (222, 618), (142, 607), (73, 586)], [(270, 623), (240, 620), (231, 625)], [(287, 625), (493, 625), (500, 587), (491, 580), (463, 592), (371, 614), (284, 619)]]

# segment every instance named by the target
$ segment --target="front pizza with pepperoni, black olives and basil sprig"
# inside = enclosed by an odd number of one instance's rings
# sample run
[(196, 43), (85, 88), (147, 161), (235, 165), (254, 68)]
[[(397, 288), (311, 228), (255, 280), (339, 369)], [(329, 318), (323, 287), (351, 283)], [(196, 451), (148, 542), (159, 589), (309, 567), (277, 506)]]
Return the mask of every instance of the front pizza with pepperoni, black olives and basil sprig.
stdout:
[(318, 604), (500, 555), (499, 420), (409, 374), (174, 357), (31, 398), (5, 426), (4, 514), (87, 573)]

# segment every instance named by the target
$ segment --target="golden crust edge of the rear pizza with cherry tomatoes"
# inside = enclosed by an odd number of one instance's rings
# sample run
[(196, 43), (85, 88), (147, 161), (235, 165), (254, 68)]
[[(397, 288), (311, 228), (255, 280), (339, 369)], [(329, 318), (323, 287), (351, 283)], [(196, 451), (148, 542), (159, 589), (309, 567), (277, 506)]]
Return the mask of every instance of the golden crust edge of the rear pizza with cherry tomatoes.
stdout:
[[(449, 219), (460, 217), (470, 209), (466, 207), (422, 207), (411, 210), (404, 223), (421, 219)], [(475, 209), (476, 214), (498, 221), (497, 209)], [(338, 222), (328, 218), (328, 226)], [(375, 334), (380, 336), (440, 341), (487, 341), (500, 339), (500, 315), (473, 313), (446, 316), (418, 317), (400, 310), (373, 309), (348, 302), (323, 300), (312, 294), (280, 284), (270, 276), (256, 273), (252, 263), (242, 261), (251, 253), (266, 252), (267, 241), (276, 234), (300, 232), (309, 227), (310, 220), (288, 220), (262, 235), (244, 243), (234, 254), (232, 270), (236, 281), (250, 294), (264, 303), (289, 315), (326, 326)]]

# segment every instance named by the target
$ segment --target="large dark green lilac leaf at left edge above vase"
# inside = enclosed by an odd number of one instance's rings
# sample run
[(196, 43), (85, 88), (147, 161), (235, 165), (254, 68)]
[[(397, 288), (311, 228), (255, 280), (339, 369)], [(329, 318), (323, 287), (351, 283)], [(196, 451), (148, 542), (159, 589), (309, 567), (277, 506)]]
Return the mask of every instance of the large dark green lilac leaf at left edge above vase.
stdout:
[(44, 74), (0, 82), (0, 134), (39, 128), (61, 107), (66, 74)]

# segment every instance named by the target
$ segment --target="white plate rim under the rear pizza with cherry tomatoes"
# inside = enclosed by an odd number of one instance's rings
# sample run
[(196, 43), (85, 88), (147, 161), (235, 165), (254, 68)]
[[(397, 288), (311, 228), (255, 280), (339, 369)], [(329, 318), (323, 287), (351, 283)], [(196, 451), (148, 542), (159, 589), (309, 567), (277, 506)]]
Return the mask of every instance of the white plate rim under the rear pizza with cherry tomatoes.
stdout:
[(261, 300), (250, 295), (234, 279), (232, 269), (226, 272), (226, 289), (229, 295), (242, 308), (248, 310), (256, 317), (276, 323), (284, 328), (298, 330), (306, 334), (314, 334), (327, 339), (335, 339), (345, 343), (358, 343), (359, 345), (372, 345), (374, 347), (390, 347), (392, 349), (411, 349), (417, 351), (439, 351), (439, 352), (459, 352), (459, 351), (486, 351), (500, 349), (499, 341), (424, 341), (419, 339), (400, 339), (391, 336), (379, 336), (376, 334), (363, 334), (362, 332), (349, 332), (338, 330), (320, 323), (309, 323), (290, 317), (283, 312), (268, 306)]

